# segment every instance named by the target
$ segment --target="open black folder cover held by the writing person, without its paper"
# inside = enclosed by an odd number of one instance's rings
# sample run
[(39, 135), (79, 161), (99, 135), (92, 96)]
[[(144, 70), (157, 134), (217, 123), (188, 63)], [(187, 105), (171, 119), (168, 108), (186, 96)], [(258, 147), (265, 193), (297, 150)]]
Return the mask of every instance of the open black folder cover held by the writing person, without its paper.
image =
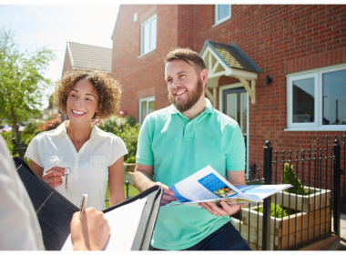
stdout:
[[(27, 166), (23, 158), (13, 158), (15, 167), (22, 179), (25, 189), (36, 210), (46, 251), (60, 251), (69, 236), (70, 223), (75, 212), (80, 211), (73, 203), (62, 196), (56, 189), (40, 178)], [(113, 209), (126, 206), (137, 199), (147, 198), (135, 240), (131, 251), (148, 251), (150, 240), (158, 218), (158, 209), (163, 196), (163, 189), (156, 186), (145, 190), (136, 197), (127, 199), (117, 205), (104, 210), (107, 213)]]

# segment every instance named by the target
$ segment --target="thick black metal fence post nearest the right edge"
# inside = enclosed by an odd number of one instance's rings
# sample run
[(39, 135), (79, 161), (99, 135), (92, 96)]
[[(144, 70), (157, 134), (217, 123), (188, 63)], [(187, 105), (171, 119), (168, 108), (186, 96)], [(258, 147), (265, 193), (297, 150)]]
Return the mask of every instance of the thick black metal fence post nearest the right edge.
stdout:
[(334, 218), (334, 231), (335, 233), (340, 236), (340, 144), (338, 139), (335, 137), (334, 144), (333, 144), (333, 150), (334, 150), (334, 166), (333, 166), (333, 218)]

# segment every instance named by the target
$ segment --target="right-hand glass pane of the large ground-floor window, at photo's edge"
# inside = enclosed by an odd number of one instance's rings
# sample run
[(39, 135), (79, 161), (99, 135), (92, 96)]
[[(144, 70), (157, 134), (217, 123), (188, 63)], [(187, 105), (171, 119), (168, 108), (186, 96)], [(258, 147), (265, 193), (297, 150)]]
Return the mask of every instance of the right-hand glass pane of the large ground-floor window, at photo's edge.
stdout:
[(323, 125), (346, 125), (346, 70), (323, 74)]

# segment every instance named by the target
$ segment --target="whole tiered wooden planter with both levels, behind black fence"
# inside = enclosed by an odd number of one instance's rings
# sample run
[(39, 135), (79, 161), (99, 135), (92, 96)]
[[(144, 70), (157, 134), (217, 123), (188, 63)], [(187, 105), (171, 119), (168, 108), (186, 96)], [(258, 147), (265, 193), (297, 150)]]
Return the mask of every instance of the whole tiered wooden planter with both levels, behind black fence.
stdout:
[[(316, 189), (317, 190), (317, 189)], [(316, 203), (311, 202), (312, 195), (310, 195), (310, 203), (309, 200), (306, 202), (305, 207), (305, 198), (300, 198), (302, 196), (297, 196), (297, 207), (298, 213), (297, 215), (291, 214), (290, 216), (286, 216), (283, 218), (274, 218), (270, 217), (270, 250), (286, 250), (289, 247), (293, 247), (295, 245), (300, 245), (308, 240), (313, 240), (315, 238), (321, 237), (327, 233), (331, 232), (331, 191), (330, 190), (320, 190), (321, 194), (314, 194), (316, 198)], [(284, 192), (286, 193), (286, 192)], [(287, 193), (289, 194), (289, 193)], [(324, 195), (323, 195), (324, 194)], [(320, 205), (325, 205), (325, 196), (327, 194), (327, 207), (321, 208)], [(280, 194), (281, 195), (281, 194)], [(286, 206), (285, 199), (289, 199), (289, 196), (286, 198), (286, 194), (284, 196), (284, 207)], [(290, 208), (295, 209), (296, 207), (296, 196), (290, 196)], [(277, 203), (280, 204), (282, 202), (282, 197), (277, 198)], [(294, 198), (294, 199), (292, 199)], [(320, 198), (322, 202), (320, 203)], [(309, 199), (309, 198), (308, 198)], [(317, 202), (319, 200), (319, 202)], [(275, 201), (275, 197), (274, 197)], [(303, 209), (310, 212), (300, 211), (301, 210), (301, 202), (303, 203)], [(300, 203), (299, 203), (300, 202)], [(288, 204), (288, 203), (287, 203)], [(310, 207), (308, 206), (310, 205)], [(263, 205), (260, 204), (260, 208)], [(253, 206), (249, 209), (248, 206), (242, 208), (241, 219), (231, 219), (234, 227), (239, 230), (241, 236), (244, 240), (249, 240), (249, 247), (251, 250), (258, 250), (257, 245), (259, 245), (259, 250), (261, 250), (262, 246), (262, 222), (263, 222), (263, 214), (257, 211), (258, 206)], [(316, 210), (311, 210), (316, 209)], [(302, 226), (301, 226), (302, 222)], [(309, 222), (309, 224), (308, 224)], [(321, 223), (320, 223), (321, 222)], [(309, 226), (309, 229), (308, 229)], [(258, 230), (259, 229), (259, 234)], [(301, 239), (302, 235), (302, 239)], [(275, 246), (273, 249), (273, 244), (275, 242)], [(282, 246), (282, 249), (281, 249)]]

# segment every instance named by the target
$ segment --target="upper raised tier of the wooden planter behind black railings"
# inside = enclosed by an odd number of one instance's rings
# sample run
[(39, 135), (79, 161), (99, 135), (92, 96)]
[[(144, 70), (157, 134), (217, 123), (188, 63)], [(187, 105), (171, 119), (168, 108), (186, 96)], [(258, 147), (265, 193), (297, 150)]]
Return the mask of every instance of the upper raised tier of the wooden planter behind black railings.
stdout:
[[(309, 187), (304, 187), (304, 188), (309, 189)], [(277, 194), (276, 203), (280, 206), (282, 206), (282, 196), (283, 196), (283, 207), (285, 208), (297, 209), (303, 212), (311, 212), (321, 208), (331, 207), (331, 190), (330, 189), (310, 188), (309, 196), (290, 194), (289, 192), (279, 192)], [(271, 202), (275, 203), (275, 196), (271, 197)]]

